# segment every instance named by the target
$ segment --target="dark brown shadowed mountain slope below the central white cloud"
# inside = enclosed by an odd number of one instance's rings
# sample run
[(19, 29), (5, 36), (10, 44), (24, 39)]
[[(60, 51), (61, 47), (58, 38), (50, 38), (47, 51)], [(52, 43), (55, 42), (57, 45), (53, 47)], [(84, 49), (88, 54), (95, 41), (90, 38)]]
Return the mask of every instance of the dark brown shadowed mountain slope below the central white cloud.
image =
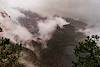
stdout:
[(48, 41), (48, 49), (41, 51), (42, 67), (72, 67), (73, 49), (85, 35), (74, 26), (57, 29)]

